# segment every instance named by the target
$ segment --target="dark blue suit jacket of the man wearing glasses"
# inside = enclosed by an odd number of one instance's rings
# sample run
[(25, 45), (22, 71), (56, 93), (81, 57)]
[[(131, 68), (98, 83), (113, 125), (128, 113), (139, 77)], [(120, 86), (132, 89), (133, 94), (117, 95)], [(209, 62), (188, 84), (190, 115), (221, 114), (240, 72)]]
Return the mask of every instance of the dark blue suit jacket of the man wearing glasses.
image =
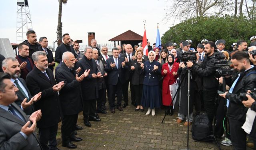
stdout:
[(125, 65), (122, 67), (122, 62), (124, 62), (123, 57), (118, 57), (118, 68), (112, 68), (110, 64), (115, 63), (114, 62), (114, 56), (111, 58), (108, 58), (106, 61), (105, 71), (108, 73), (108, 84), (110, 85), (116, 85), (118, 83), (118, 79), (122, 84), (125, 82), (125, 72), (128, 69), (128, 67)]

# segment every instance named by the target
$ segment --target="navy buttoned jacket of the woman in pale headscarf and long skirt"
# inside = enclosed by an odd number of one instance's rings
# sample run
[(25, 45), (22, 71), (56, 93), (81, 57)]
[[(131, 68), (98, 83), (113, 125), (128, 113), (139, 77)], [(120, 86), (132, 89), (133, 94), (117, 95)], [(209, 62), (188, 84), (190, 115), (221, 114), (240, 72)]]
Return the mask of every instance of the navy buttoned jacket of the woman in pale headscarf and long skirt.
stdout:
[[(158, 66), (158, 70), (154, 70), (154, 65)], [(158, 61), (154, 60), (153, 62), (146, 61), (144, 62), (144, 81), (143, 84), (147, 86), (157, 86), (159, 85), (158, 76), (161, 75), (161, 65)]]

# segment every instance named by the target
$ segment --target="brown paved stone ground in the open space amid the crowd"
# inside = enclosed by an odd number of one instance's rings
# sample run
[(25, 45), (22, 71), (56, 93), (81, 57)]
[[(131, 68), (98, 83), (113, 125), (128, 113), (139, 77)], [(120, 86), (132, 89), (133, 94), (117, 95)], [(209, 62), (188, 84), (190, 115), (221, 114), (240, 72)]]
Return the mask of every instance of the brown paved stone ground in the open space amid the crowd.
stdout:
[[(108, 105), (107, 105), (108, 106)], [(78, 131), (77, 137), (82, 137), (80, 142), (74, 142), (76, 150), (180, 150), (186, 149), (187, 127), (176, 123), (177, 112), (167, 116), (164, 124), (164, 110), (156, 110), (156, 115), (145, 115), (144, 112), (135, 112), (130, 105), (120, 112), (99, 114), (101, 122), (91, 122), (92, 127), (83, 124), (83, 115), (78, 117), (78, 125), (83, 130)], [(192, 126), (190, 126), (191, 129)], [(59, 129), (60, 132), (60, 129)], [(189, 132), (190, 150), (218, 150), (214, 142), (194, 142)], [(220, 143), (220, 140), (219, 140)], [(60, 133), (58, 133), (58, 148), (62, 147)], [(223, 146), (222, 150), (231, 150), (232, 146)]]

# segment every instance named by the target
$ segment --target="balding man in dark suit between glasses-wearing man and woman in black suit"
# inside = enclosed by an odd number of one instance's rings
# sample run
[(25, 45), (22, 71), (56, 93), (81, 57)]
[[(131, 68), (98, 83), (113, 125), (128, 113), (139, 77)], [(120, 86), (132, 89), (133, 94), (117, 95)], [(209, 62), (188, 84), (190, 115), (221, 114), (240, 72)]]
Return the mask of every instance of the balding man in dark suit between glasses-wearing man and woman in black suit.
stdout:
[[(135, 57), (132, 55), (132, 46), (131, 44), (126, 44), (125, 46), (125, 53), (121, 55), (121, 57), (124, 58), (125, 64), (128, 67), (128, 69), (125, 71), (125, 83), (122, 84), (122, 92), (124, 96), (124, 105), (123, 108), (126, 108), (128, 106), (128, 87), (129, 82), (132, 80), (132, 76), (130, 75), (130, 68), (131, 68), (131, 62), (135, 59)], [(134, 87), (132, 84), (130, 84), (130, 90), (131, 90), (131, 99), (132, 99), (132, 105), (137, 106), (135, 103), (135, 93), (134, 93)]]

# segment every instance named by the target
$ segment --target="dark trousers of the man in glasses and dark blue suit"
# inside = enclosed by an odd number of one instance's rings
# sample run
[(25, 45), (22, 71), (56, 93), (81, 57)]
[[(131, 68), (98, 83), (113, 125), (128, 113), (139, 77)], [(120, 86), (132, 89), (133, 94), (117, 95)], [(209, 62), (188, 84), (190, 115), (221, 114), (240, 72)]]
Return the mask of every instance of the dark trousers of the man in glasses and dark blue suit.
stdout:
[(108, 84), (108, 88), (109, 88), (109, 106), (110, 106), (110, 110), (115, 109), (115, 94), (117, 93), (117, 103), (116, 106), (121, 106), (122, 103), (122, 84), (120, 82), (120, 80), (118, 79), (118, 82), (116, 85), (111, 85)]

